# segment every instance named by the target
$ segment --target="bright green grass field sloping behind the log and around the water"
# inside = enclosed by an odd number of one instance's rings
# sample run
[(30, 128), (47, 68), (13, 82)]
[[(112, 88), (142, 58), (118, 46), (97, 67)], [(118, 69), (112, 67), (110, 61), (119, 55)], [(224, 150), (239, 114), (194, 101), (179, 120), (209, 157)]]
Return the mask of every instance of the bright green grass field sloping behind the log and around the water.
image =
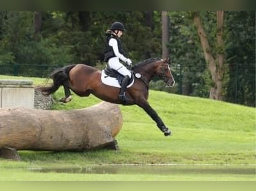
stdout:
[[(0, 79), (32, 79), (43, 84), (44, 79), (7, 77)], [(54, 96), (63, 96), (60, 88)], [(100, 102), (94, 96), (78, 97), (67, 104), (55, 103), (52, 109), (84, 108)], [(85, 167), (106, 164), (213, 164), (235, 165), (255, 169), (255, 117), (256, 109), (222, 101), (150, 91), (149, 102), (165, 124), (172, 130), (164, 137), (153, 120), (138, 106), (120, 106), (123, 127), (116, 139), (120, 150), (87, 152), (35, 152), (19, 151), (21, 162), (0, 160), (0, 180), (51, 179), (67, 180), (69, 173), (35, 173), (13, 169)], [(17, 175), (17, 176), (16, 176)], [(30, 177), (30, 178), (28, 178)], [(76, 174), (72, 180), (255, 180), (254, 174)]]

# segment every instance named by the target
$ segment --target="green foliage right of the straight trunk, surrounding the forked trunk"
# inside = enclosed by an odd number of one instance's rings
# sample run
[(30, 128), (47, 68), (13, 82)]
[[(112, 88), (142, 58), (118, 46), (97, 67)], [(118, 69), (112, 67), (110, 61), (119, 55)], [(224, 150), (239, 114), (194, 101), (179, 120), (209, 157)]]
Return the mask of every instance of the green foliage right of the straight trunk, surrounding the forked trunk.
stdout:
[[(179, 93), (184, 93), (185, 85), (188, 95), (208, 97), (212, 82), (191, 13), (170, 12), (170, 56), (178, 73)], [(215, 54), (220, 51), (215, 40), (215, 11), (200, 11), (200, 14)], [(225, 100), (255, 106), (255, 11), (226, 11), (224, 31)]]

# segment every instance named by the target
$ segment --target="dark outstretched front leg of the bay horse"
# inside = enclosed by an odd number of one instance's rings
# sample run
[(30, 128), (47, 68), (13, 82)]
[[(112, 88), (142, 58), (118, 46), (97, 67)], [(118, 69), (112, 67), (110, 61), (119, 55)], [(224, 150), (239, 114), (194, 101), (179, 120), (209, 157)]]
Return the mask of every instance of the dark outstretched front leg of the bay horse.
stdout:
[(156, 111), (149, 105), (147, 100), (140, 100), (138, 106), (144, 109), (146, 113), (156, 122), (158, 128), (164, 133), (164, 136), (171, 135), (171, 131), (165, 126), (162, 119), (158, 116)]

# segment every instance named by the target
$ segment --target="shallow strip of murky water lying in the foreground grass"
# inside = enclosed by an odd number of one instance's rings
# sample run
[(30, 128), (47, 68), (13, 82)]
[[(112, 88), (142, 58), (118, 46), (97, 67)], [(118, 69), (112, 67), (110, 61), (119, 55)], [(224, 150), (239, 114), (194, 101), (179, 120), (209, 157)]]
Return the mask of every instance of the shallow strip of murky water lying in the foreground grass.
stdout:
[(256, 174), (248, 165), (95, 165), (75, 168), (30, 169), (33, 172), (80, 174)]

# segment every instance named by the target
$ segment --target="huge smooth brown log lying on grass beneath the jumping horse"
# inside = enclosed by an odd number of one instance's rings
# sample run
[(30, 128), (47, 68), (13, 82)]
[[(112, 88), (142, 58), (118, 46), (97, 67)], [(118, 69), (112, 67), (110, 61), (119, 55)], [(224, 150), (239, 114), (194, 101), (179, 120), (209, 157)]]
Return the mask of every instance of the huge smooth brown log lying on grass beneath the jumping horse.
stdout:
[(0, 150), (82, 151), (107, 146), (122, 127), (117, 104), (101, 102), (86, 109), (0, 109)]

